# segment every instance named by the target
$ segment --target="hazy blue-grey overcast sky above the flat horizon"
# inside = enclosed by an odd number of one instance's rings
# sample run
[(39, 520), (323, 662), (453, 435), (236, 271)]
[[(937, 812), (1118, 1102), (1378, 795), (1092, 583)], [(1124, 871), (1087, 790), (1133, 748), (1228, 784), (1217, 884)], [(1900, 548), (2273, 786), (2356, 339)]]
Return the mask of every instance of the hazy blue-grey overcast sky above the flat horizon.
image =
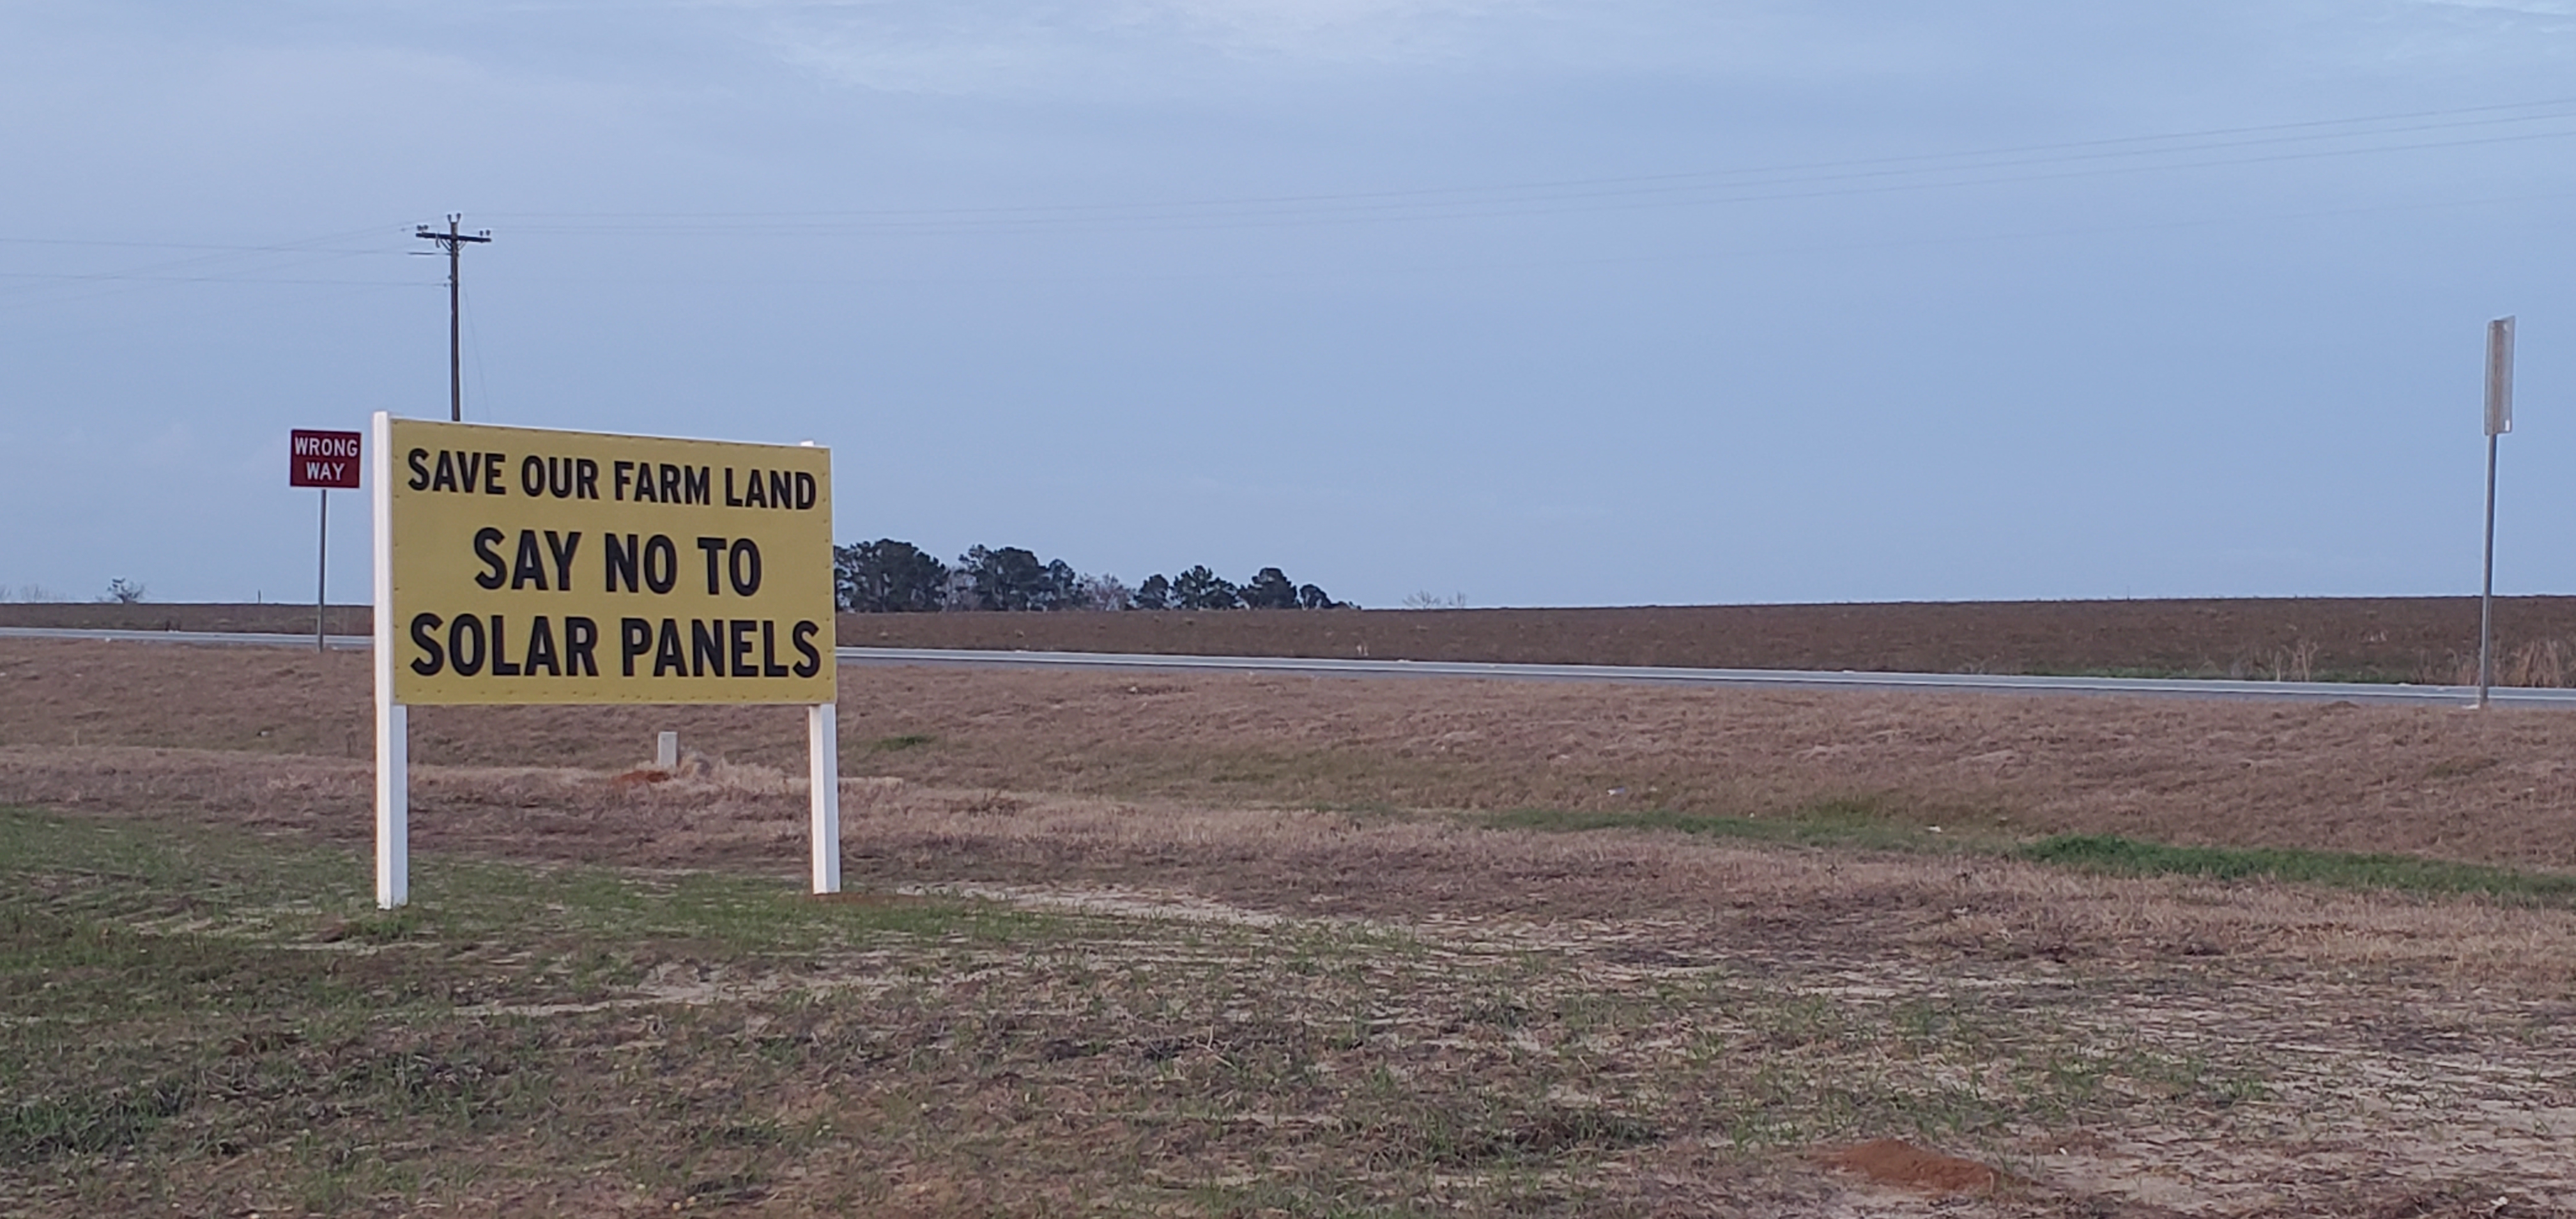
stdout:
[[(2576, 0), (0, 0), (0, 585), (312, 595), (289, 428), (1471, 606), (2576, 590)], [(366, 593), (335, 497), (332, 593)]]

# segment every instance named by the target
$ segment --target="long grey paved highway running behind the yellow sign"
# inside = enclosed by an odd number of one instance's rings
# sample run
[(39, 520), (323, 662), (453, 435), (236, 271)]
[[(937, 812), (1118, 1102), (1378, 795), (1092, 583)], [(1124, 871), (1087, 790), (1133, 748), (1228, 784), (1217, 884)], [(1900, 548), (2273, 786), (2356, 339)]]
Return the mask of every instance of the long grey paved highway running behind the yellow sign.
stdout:
[[(309, 634), (247, 631), (75, 631), (0, 626), (0, 639), (108, 639), (144, 644), (312, 647)], [(366, 649), (363, 634), (335, 634), (335, 649)], [(1731, 686), (1775, 691), (1929, 691), (1929, 693), (2115, 693), (2166, 698), (2277, 698), (2468, 706), (2468, 686), (2365, 686), (2342, 680), (2192, 680), (2192, 678), (2027, 678), (2009, 673), (1814, 673), (1646, 665), (1481, 665), (1471, 660), (1303, 660), (1303, 657), (1162, 657), (1123, 652), (971, 652), (933, 647), (842, 647), (842, 665), (966, 665), (1133, 673), (1296, 673), (1316, 678), (1486, 678), (1486, 680), (1625, 680), (1654, 686)], [(2576, 709), (2576, 691), (2496, 688), (2499, 706)]]

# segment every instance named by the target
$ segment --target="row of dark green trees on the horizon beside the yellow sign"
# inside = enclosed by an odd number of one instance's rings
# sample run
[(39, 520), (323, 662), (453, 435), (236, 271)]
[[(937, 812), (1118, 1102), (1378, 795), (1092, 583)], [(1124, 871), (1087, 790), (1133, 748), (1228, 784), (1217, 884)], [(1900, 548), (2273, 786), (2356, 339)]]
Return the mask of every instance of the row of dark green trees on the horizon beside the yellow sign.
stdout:
[(1023, 546), (969, 546), (951, 564), (894, 539), (832, 546), (832, 590), (848, 613), (1350, 608), (1278, 567), (1236, 585), (1195, 564), (1180, 575), (1154, 572), (1131, 588), (1115, 575), (1082, 575)]

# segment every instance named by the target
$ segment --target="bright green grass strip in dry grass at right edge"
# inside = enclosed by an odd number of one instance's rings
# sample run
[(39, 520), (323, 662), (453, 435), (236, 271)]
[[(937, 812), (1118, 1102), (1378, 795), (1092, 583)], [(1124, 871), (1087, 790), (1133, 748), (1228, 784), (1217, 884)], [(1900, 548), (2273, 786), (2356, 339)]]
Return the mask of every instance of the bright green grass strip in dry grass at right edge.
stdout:
[(2398, 889), (2419, 894), (2478, 894), (2545, 905), (2576, 905), (2576, 876), (2494, 869), (2421, 856), (2365, 856), (2347, 850), (2164, 845), (2120, 835), (2053, 835), (2014, 850), (2032, 863), (2053, 863), (2102, 876), (2208, 876), (2215, 881), (2295, 881), (2336, 889)]

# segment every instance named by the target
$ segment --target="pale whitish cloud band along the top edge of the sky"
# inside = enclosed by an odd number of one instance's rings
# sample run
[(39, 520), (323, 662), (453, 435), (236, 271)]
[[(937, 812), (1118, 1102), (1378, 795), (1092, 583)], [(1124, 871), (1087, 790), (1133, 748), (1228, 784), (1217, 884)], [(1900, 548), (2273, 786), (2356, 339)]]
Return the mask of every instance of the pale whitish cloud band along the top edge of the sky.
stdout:
[[(2576, 0), (708, 0), (775, 59), (927, 95), (1221, 95), (1270, 82), (1664, 75), (1726, 85), (2066, 90), (2063, 64), (2169, 82), (2177, 62), (2262, 80), (2293, 64), (2543, 64)], [(2445, 64), (2450, 62), (2450, 64)], [(2081, 93), (2081, 85), (2074, 85)]]

